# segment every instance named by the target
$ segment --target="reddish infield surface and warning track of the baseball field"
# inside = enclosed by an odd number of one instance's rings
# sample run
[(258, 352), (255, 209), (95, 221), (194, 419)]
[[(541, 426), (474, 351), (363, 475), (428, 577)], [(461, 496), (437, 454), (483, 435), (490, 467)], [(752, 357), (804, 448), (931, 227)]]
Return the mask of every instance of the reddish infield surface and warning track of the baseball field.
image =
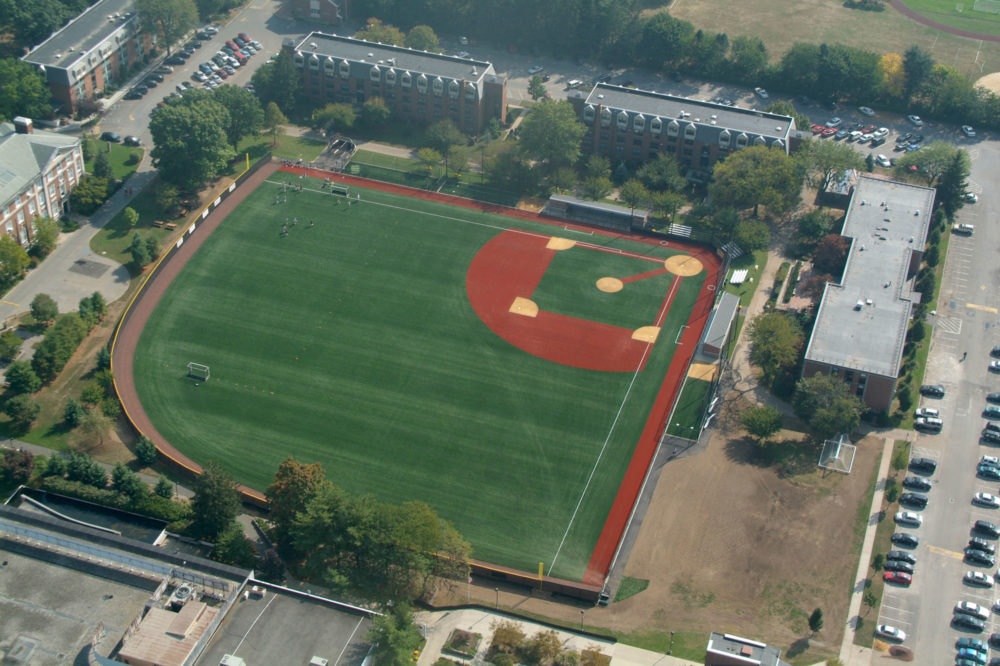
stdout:
[[(566, 224), (561, 220), (556, 222), (529, 211), (367, 180), (357, 176), (334, 174), (303, 167), (283, 167), (282, 170), (297, 174), (305, 173), (316, 178), (331, 178), (338, 183), (411, 198), (438, 201), (533, 222), (554, 224), (564, 229), (593, 232), (595, 236), (627, 237), (632, 241), (648, 245), (665, 243), (642, 236), (625, 236), (593, 227)], [(252, 174), (246, 182), (240, 184), (232, 196), (223, 201), (198, 225), (197, 232), (191, 235), (185, 234), (184, 245), (153, 273), (129, 310), (126, 311), (112, 346), (115, 385), (129, 419), (140, 433), (154, 441), (157, 449), (165, 457), (188, 472), (199, 473), (201, 468), (171, 446), (156, 431), (139, 402), (135, 380), (132, 376), (132, 362), (136, 345), (142, 328), (160, 297), (173, 278), (183, 269), (194, 251), (236, 205), (274, 171), (274, 165), (266, 165)], [(546, 249), (547, 240), (548, 237), (545, 236), (506, 231), (500, 233), (484, 246), (483, 251), (476, 256), (470, 265), (467, 276), (467, 293), (477, 314), (504, 340), (529, 353), (556, 363), (618, 372), (634, 372), (637, 368), (641, 368), (648, 343), (632, 340), (632, 332), (628, 329), (544, 311), (539, 312), (536, 317), (526, 317), (508, 312), (513, 298), (529, 296), (544, 274), (551, 256), (555, 252), (555, 250)], [(582, 581), (586, 585), (600, 586), (604, 582), (604, 577), (611, 566), (611, 560), (624, 533), (632, 507), (638, 499), (643, 480), (652, 463), (668, 412), (680, 390), (684, 374), (694, 355), (695, 346), (701, 337), (714, 302), (713, 289), (718, 283), (720, 268), (716, 255), (705, 248), (687, 246), (674, 241), (670, 241), (670, 247), (686, 251), (697, 258), (708, 274), (591, 555)], [(676, 292), (676, 286), (680, 281), (681, 277), (676, 276), (670, 292), (660, 308), (660, 316), (669, 308), (673, 294)], [(245, 487), (241, 487), (241, 490), (248, 500), (258, 504), (261, 502), (262, 495), (258, 491)]]

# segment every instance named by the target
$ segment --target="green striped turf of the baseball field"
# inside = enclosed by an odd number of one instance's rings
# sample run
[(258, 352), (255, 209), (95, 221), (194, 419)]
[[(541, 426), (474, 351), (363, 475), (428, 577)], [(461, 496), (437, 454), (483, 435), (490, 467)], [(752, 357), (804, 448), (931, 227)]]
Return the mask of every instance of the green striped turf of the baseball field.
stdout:
[[(492, 333), (469, 305), (465, 274), (503, 228), (571, 232), (370, 190), (348, 209), (308, 189), (319, 181), (274, 177), (307, 191), (278, 206), (273, 182), (250, 193), (142, 333), (135, 378), (157, 429), (258, 489), (286, 456), (321, 462), (351, 492), (427, 502), (478, 559), (528, 571), (544, 562), (547, 574), (579, 579), (704, 273), (681, 283), (643, 371), (558, 365)], [(297, 225), (280, 237), (292, 217)], [(605, 264), (623, 261), (607, 253), (559, 255), (559, 279), (540, 292), (564, 304), (579, 295), (574, 272), (596, 293), (595, 267), (632, 274), (657, 265), (636, 271)], [(574, 266), (570, 255), (593, 264)], [(670, 277), (629, 285), (655, 284), (641, 309), (655, 314)], [(596, 318), (596, 308), (580, 316)], [(631, 326), (626, 315), (619, 304), (601, 318)], [(209, 365), (211, 380), (186, 378), (189, 361)]]

